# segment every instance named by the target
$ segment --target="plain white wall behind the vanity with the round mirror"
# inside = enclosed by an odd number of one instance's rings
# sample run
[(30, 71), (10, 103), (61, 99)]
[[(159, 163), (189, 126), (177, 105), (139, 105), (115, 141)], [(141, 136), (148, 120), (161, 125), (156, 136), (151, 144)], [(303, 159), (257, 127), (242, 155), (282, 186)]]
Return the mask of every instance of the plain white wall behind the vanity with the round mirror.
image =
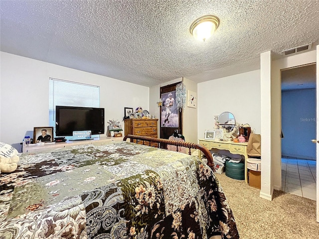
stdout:
[(249, 123), (260, 133), (260, 70), (198, 84), (198, 138), (213, 129), (214, 116), (228, 111), (237, 123)]

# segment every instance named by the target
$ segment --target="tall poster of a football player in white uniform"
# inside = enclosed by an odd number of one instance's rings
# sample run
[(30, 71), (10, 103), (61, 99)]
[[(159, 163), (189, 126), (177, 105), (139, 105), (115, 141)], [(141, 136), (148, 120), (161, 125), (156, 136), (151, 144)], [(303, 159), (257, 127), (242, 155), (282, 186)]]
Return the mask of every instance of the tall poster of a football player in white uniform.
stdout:
[(160, 125), (162, 127), (178, 127), (178, 110), (175, 104), (176, 91), (163, 93), (160, 98), (163, 100)]

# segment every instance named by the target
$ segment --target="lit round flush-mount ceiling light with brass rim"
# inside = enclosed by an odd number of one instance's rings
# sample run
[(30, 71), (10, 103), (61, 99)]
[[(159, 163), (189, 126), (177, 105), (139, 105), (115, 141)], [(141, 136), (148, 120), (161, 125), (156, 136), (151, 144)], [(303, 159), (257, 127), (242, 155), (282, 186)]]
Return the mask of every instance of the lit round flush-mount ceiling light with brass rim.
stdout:
[(213, 15), (205, 15), (196, 19), (190, 26), (190, 33), (198, 40), (205, 41), (211, 37), (219, 26), (219, 18)]

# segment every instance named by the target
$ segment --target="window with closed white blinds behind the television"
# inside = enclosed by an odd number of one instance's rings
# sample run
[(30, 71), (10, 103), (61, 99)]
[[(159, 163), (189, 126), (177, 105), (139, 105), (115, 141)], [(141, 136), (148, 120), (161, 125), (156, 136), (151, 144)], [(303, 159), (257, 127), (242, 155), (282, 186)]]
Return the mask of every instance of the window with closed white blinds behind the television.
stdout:
[(100, 107), (100, 87), (49, 78), (49, 126), (54, 127), (55, 106)]

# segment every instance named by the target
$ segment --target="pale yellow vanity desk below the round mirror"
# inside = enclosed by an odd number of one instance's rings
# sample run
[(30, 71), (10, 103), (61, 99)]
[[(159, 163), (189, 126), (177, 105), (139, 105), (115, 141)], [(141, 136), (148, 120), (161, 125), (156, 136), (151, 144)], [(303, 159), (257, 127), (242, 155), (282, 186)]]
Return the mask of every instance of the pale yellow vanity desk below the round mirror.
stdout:
[(216, 141), (210, 139), (199, 139), (199, 144), (203, 145), (207, 149), (219, 149), (219, 150), (228, 150), (232, 154), (243, 155), (245, 158), (245, 182), (247, 180), (247, 142), (245, 143), (234, 143), (233, 141)]

